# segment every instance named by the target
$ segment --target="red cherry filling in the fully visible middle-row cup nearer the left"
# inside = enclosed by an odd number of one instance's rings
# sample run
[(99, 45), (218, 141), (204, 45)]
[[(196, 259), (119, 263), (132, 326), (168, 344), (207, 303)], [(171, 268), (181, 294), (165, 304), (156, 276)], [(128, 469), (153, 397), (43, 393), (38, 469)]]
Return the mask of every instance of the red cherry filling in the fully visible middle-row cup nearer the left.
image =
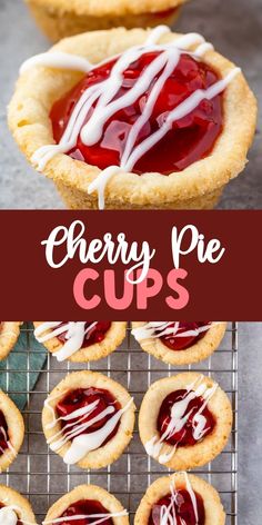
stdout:
[[(77, 434), (80, 436), (81, 434), (91, 434), (93, 432), (99, 430), (102, 428), (109, 419), (119, 410), (121, 410), (120, 403), (113, 397), (113, 395), (103, 388), (77, 388), (74, 390), (69, 392), (58, 404), (57, 404), (57, 415), (58, 417), (64, 417), (69, 414), (78, 410), (79, 408), (83, 408), (88, 405), (91, 405), (94, 402), (99, 402), (95, 408), (87, 414), (87, 416), (77, 417), (75, 419), (72, 418), (69, 420), (61, 419), (61, 426), (63, 428), (63, 434), (73, 432), (73, 429), (79, 427), (79, 425), (83, 425), (84, 423), (90, 422), (91, 419), (95, 418), (99, 414), (101, 414), (107, 407), (112, 406), (114, 412), (111, 414), (105, 415), (101, 419), (98, 419), (91, 426), (85, 429), (80, 429)], [(80, 420), (81, 419), (81, 420)], [(70, 423), (69, 428), (64, 428), (66, 425)], [(105, 445), (113, 436), (115, 436), (120, 423), (118, 423), (111, 434), (104, 439), (101, 446)]]

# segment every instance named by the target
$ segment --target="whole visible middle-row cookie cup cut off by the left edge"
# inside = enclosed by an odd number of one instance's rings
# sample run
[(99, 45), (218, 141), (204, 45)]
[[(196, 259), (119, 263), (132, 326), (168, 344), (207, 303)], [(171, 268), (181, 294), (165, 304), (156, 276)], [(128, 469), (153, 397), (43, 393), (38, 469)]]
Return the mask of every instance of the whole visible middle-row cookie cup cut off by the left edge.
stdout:
[(16, 459), (23, 437), (22, 415), (10, 397), (0, 390), (0, 473)]

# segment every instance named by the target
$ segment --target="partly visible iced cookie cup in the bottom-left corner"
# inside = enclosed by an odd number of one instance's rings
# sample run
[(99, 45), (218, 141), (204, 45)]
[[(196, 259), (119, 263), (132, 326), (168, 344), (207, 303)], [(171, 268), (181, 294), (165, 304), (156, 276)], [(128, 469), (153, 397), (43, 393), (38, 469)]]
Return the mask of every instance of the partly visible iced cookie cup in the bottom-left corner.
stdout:
[(0, 523), (2, 525), (37, 524), (29, 501), (6, 485), (0, 485)]

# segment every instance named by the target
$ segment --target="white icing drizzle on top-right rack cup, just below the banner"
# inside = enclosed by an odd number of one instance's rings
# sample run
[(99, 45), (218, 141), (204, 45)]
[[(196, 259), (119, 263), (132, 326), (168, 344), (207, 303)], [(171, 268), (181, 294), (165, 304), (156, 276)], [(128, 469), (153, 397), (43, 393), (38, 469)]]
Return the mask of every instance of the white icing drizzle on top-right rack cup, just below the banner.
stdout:
[(203, 325), (198, 327), (194, 330), (180, 330), (180, 321), (159, 321), (159, 320), (151, 320), (143, 326), (139, 326), (132, 329), (132, 335), (135, 337), (138, 341), (143, 339), (158, 339), (160, 337), (169, 336), (169, 337), (198, 337), (200, 334), (208, 331), (213, 325), (216, 323), (212, 323), (210, 325)]

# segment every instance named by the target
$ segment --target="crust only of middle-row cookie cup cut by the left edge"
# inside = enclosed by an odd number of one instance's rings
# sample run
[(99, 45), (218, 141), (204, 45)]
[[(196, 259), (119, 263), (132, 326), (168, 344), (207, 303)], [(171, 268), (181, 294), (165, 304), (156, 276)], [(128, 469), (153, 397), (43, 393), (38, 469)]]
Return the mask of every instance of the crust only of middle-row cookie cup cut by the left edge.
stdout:
[(10, 397), (0, 390), (0, 410), (3, 413), (7, 425), (9, 442), (12, 449), (7, 448), (0, 455), (0, 472), (6, 470), (16, 459), (24, 437), (24, 423), (20, 410)]

